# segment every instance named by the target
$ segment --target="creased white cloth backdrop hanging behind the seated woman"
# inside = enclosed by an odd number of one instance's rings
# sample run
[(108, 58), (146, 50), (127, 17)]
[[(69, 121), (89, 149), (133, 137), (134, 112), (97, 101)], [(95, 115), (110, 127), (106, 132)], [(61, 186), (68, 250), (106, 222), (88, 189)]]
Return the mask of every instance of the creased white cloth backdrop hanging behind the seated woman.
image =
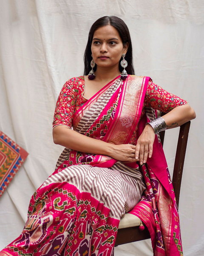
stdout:
[[(33, 192), (54, 171), (61, 146), (52, 119), (62, 85), (83, 74), (92, 23), (116, 15), (127, 23), (139, 76), (190, 102), (190, 128), (179, 213), (185, 256), (204, 255), (204, 1), (1, 0), (0, 130), (28, 151), (0, 198), (0, 249), (21, 233)], [(173, 169), (175, 135), (165, 154)], [(150, 240), (116, 248), (116, 256), (150, 256)]]

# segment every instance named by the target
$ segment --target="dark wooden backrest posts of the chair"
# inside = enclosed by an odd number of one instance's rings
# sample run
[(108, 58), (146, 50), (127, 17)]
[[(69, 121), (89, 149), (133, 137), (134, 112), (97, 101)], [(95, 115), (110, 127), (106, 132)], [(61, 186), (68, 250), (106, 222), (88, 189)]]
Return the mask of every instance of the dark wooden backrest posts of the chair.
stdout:
[[(177, 143), (176, 157), (175, 157), (174, 168), (173, 168), (173, 179), (172, 179), (177, 206), (179, 203), (181, 178), (182, 178), (182, 173), (184, 168), (184, 159), (186, 154), (189, 129), (190, 129), (190, 121), (180, 126), (180, 131), (178, 135), (178, 143)], [(165, 134), (165, 131), (160, 132), (162, 146), (164, 143), (164, 134)]]

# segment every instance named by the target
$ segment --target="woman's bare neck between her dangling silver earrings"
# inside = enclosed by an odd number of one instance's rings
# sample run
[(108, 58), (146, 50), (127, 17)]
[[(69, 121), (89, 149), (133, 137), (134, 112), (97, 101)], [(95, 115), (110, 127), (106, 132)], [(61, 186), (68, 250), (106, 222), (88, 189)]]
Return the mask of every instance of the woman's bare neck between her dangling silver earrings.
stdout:
[(116, 67), (99, 67), (97, 66), (95, 75), (96, 81), (111, 81), (121, 74), (118, 65)]

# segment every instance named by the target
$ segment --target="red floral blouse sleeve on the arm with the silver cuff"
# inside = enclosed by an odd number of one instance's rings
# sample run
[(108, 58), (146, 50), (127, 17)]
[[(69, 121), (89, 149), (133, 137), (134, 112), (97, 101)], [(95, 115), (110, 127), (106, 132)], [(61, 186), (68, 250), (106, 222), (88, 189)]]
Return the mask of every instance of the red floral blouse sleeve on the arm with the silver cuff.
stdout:
[(152, 81), (149, 81), (144, 98), (144, 106), (150, 106), (161, 112), (168, 113), (173, 108), (187, 104), (187, 101), (167, 92)]

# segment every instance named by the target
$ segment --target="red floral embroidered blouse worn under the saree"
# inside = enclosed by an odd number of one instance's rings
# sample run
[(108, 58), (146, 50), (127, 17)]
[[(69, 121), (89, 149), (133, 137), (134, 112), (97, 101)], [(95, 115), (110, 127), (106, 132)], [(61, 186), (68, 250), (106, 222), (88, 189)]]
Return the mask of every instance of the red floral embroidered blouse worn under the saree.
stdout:
[[(87, 99), (83, 97), (84, 85), (84, 76), (74, 77), (64, 84), (57, 99), (53, 128), (58, 125), (67, 125), (71, 129), (74, 113), (87, 102)], [(151, 106), (167, 113), (173, 108), (186, 104), (188, 104), (187, 101), (168, 93), (150, 80), (147, 85), (141, 117), (144, 115), (145, 106)]]

